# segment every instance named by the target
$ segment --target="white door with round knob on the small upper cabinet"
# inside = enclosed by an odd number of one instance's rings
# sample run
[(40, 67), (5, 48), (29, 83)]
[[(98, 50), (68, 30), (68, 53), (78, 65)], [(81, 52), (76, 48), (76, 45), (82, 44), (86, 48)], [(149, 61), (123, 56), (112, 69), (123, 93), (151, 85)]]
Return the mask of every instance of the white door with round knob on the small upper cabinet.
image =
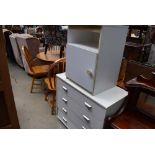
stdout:
[(92, 93), (97, 53), (78, 46), (67, 45), (66, 59), (66, 76)]

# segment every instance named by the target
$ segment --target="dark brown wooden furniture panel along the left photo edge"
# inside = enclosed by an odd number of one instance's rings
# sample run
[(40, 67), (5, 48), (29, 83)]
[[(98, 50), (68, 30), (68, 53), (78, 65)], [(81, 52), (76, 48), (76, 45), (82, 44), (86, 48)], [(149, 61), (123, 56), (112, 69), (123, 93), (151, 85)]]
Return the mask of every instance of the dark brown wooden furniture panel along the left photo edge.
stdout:
[(0, 26), (0, 128), (19, 128), (4, 46)]

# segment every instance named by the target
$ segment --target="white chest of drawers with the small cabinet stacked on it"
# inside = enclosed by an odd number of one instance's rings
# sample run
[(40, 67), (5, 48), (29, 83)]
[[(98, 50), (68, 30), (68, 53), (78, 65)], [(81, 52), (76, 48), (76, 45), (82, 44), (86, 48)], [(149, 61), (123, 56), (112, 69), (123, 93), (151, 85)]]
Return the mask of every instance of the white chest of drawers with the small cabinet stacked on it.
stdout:
[(126, 96), (119, 87), (92, 96), (67, 79), (65, 73), (57, 75), (58, 118), (67, 128), (103, 128), (106, 116), (114, 113)]

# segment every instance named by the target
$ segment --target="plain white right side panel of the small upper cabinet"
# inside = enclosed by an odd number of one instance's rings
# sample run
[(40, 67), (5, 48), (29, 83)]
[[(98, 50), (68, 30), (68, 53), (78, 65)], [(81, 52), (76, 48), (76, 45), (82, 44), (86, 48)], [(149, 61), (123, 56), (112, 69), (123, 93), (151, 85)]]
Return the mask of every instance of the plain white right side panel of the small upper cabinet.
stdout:
[(127, 26), (104, 26), (102, 28), (94, 95), (116, 85), (127, 31)]

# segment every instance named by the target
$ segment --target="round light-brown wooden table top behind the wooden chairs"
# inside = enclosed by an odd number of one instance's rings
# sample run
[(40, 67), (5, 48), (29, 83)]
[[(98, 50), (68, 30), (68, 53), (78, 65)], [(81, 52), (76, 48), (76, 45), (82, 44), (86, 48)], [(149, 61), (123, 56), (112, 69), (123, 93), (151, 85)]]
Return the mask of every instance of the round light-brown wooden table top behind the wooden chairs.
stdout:
[(47, 51), (46, 54), (45, 52), (40, 52), (36, 57), (46, 62), (54, 62), (60, 58), (60, 51)]

